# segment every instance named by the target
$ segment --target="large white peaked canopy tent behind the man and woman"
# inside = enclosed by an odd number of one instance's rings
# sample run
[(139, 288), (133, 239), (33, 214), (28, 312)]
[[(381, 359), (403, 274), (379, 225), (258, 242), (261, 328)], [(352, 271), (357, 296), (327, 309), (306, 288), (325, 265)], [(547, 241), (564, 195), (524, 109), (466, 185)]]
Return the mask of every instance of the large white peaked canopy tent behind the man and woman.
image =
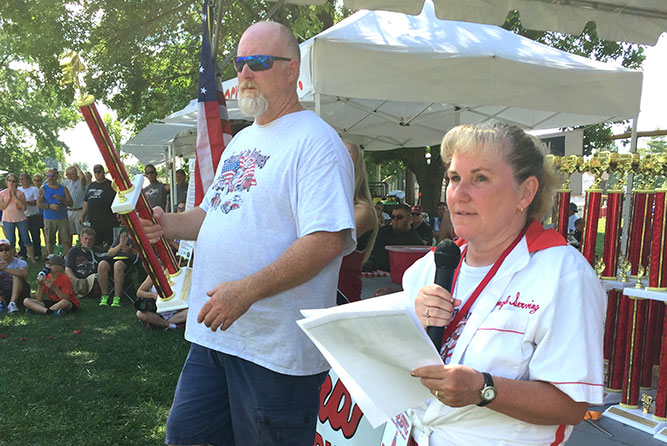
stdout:
[[(499, 27), (358, 12), (301, 44), (302, 103), (367, 150), (437, 144), (490, 118), (546, 129), (634, 118), (642, 74), (575, 56)], [(223, 84), (241, 119), (236, 79)], [(319, 107), (318, 107), (319, 101)], [(196, 125), (191, 103), (166, 123)]]

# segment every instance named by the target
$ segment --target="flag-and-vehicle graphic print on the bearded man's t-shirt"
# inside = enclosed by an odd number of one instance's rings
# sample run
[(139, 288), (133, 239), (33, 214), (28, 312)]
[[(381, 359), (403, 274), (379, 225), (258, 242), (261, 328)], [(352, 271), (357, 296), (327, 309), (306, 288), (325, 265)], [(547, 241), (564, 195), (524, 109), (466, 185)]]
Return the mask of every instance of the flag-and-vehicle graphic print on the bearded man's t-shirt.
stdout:
[(213, 183), (215, 195), (211, 207), (220, 208), (225, 214), (240, 208), (243, 203), (241, 193), (249, 192), (251, 187), (257, 185), (255, 169), (262, 169), (269, 158), (257, 149), (248, 149), (227, 158)]

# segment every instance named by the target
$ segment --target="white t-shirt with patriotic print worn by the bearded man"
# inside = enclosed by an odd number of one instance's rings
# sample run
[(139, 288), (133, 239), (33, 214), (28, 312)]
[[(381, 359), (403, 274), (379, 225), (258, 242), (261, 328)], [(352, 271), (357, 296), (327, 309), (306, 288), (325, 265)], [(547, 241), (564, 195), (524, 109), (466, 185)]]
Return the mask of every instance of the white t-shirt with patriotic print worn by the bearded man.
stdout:
[(353, 171), (336, 132), (311, 111), (255, 123), (234, 137), (200, 205), (206, 218), (195, 247), (187, 340), (284, 374), (329, 368), (296, 320), (301, 309), (336, 304), (342, 256), (308, 282), (256, 302), (225, 331), (196, 319), (207, 291), (259, 271), (305, 235), (348, 229), (343, 255), (352, 252)]

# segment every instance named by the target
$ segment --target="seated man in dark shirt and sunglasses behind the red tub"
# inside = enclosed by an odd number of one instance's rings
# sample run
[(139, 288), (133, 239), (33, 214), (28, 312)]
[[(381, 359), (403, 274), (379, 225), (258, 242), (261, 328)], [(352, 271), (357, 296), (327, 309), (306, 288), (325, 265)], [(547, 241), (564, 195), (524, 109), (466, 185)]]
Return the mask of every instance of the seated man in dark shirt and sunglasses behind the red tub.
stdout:
[(364, 264), (364, 271), (389, 271), (389, 245), (424, 245), (419, 234), (410, 227), (410, 206), (399, 204), (391, 211), (391, 223), (378, 231), (373, 252)]

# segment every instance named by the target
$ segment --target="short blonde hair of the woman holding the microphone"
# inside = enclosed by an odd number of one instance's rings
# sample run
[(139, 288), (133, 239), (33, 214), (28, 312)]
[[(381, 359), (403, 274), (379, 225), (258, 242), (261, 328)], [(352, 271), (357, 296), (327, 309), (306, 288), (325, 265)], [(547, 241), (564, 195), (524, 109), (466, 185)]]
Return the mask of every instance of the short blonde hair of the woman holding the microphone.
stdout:
[(553, 165), (545, 157), (542, 142), (519, 127), (499, 121), (454, 127), (442, 140), (440, 154), (449, 168), (455, 153), (482, 155), (500, 151), (514, 172), (517, 184), (537, 178), (539, 187), (528, 206), (526, 218), (542, 221), (551, 211), (551, 202), (559, 184)]

